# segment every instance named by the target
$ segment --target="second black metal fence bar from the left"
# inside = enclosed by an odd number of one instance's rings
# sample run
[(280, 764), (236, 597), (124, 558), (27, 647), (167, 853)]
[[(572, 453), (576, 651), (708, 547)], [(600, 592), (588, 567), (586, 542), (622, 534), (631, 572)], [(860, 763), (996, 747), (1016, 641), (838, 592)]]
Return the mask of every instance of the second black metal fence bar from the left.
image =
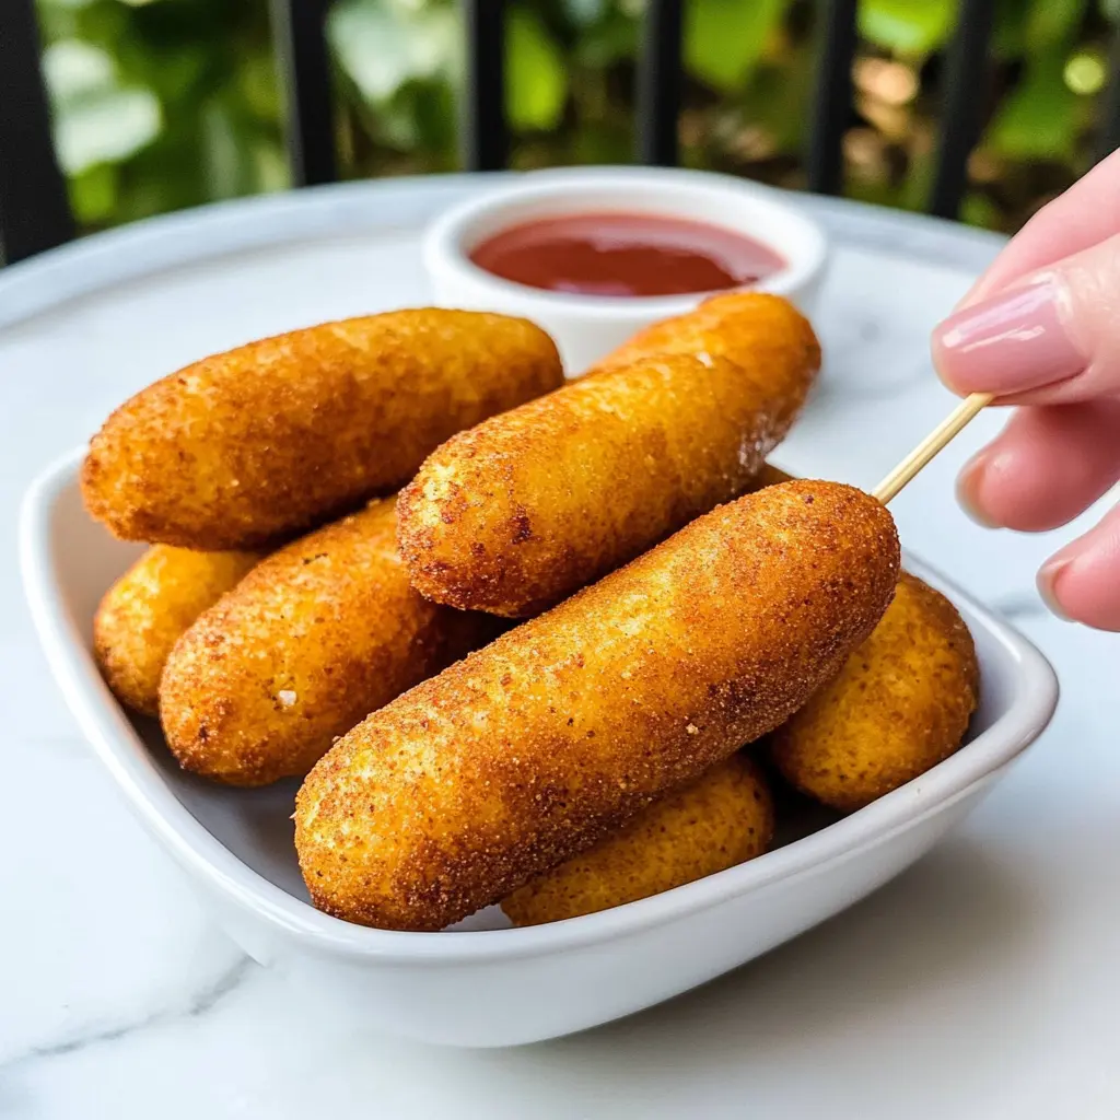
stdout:
[(328, 0), (272, 0), (277, 67), (287, 101), (292, 186), (334, 183), (335, 112), (327, 54)]

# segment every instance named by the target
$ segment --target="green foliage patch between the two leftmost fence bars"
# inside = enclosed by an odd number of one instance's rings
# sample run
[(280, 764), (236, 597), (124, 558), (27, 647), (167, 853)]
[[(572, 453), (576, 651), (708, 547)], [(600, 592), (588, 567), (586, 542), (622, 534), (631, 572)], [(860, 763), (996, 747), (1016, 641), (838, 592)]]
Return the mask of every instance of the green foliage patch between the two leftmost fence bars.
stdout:
[(60, 161), (86, 225), (288, 181), (258, 0), (40, 0)]

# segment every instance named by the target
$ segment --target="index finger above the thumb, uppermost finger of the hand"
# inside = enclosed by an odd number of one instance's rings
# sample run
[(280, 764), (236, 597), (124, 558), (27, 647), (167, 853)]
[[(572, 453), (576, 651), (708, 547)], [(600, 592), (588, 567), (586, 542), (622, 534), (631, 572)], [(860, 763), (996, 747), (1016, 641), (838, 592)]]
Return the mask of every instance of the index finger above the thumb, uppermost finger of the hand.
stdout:
[(1047, 203), (1008, 243), (958, 305), (967, 307), (1073, 253), (1120, 233), (1120, 151)]

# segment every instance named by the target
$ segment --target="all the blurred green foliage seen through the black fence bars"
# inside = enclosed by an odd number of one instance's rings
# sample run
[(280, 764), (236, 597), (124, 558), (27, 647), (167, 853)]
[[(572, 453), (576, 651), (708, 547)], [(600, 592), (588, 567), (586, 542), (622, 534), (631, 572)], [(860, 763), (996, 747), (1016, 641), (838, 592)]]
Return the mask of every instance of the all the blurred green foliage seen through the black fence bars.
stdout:
[[(90, 227), (288, 183), (268, 0), (38, 0), (60, 161)], [(517, 0), (506, 24), (515, 166), (633, 149), (644, 0)], [(683, 158), (801, 183), (814, 0), (688, 0)], [(861, 0), (848, 193), (918, 208), (959, 0)], [(993, 96), (964, 217), (1010, 227), (1086, 164), (1120, 0), (999, 0)], [(328, 18), (349, 175), (457, 161), (457, 0), (336, 0)], [(928, 64), (928, 65), (927, 65)]]

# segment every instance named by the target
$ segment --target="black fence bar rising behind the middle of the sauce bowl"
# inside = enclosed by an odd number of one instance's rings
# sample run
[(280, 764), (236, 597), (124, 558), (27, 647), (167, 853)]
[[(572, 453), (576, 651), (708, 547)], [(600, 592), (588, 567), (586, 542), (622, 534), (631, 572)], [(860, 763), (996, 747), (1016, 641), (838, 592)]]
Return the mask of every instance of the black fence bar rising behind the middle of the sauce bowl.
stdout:
[(675, 167), (684, 85), (682, 0), (648, 0), (637, 67), (637, 158)]

